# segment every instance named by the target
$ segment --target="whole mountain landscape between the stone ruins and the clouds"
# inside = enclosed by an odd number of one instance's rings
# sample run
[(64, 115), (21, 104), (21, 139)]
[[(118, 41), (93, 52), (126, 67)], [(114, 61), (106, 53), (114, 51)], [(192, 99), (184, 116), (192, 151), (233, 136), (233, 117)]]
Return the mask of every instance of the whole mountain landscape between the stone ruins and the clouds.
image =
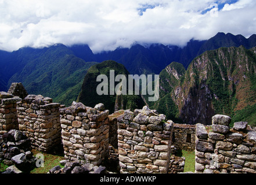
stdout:
[[(0, 91), (21, 82), (28, 94), (41, 94), (69, 106), (103, 102), (110, 112), (148, 105), (175, 123), (211, 124), (214, 114), (256, 125), (256, 36), (218, 33), (190, 40), (185, 47), (160, 43), (93, 53), (88, 45), (56, 44), (0, 51)], [(96, 76), (159, 75), (160, 98), (96, 94)]]

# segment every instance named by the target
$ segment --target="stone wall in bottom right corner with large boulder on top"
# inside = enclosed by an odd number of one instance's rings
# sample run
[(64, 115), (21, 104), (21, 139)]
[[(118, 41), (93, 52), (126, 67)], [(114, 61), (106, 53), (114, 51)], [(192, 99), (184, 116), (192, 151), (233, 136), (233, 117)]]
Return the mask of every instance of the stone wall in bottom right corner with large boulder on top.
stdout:
[(230, 129), (230, 121), (215, 115), (211, 128), (196, 125), (197, 173), (256, 173), (256, 132), (247, 122)]

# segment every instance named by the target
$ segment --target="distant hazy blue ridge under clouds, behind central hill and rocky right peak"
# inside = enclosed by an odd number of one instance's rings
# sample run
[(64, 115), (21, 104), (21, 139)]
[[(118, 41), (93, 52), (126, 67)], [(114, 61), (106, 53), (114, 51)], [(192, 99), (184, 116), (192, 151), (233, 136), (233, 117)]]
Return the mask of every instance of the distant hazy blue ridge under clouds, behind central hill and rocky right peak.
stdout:
[(176, 61), (187, 69), (190, 62), (208, 50), (219, 47), (239, 47), (246, 49), (256, 46), (256, 35), (246, 39), (242, 35), (218, 33), (208, 40), (191, 39), (186, 46), (164, 46), (158, 43), (142, 46), (135, 43), (131, 48), (118, 48), (95, 54), (95, 61), (114, 60), (123, 64), (131, 74), (159, 74), (167, 65)]

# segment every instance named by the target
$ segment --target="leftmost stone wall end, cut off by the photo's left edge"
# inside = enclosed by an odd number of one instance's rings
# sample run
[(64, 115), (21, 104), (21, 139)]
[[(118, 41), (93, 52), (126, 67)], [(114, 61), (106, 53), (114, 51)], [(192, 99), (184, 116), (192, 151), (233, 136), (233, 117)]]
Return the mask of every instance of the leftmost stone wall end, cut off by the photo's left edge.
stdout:
[(20, 100), (12, 94), (0, 92), (0, 134), (18, 128), (16, 106)]

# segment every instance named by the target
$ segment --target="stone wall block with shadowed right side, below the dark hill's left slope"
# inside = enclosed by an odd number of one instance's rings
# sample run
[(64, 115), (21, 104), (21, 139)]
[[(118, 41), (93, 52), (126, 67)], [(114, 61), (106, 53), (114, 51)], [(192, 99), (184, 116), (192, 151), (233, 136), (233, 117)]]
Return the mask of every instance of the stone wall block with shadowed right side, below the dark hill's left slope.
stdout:
[(109, 153), (109, 110), (99, 103), (90, 108), (73, 102), (60, 109), (65, 158), (99, 165)]

